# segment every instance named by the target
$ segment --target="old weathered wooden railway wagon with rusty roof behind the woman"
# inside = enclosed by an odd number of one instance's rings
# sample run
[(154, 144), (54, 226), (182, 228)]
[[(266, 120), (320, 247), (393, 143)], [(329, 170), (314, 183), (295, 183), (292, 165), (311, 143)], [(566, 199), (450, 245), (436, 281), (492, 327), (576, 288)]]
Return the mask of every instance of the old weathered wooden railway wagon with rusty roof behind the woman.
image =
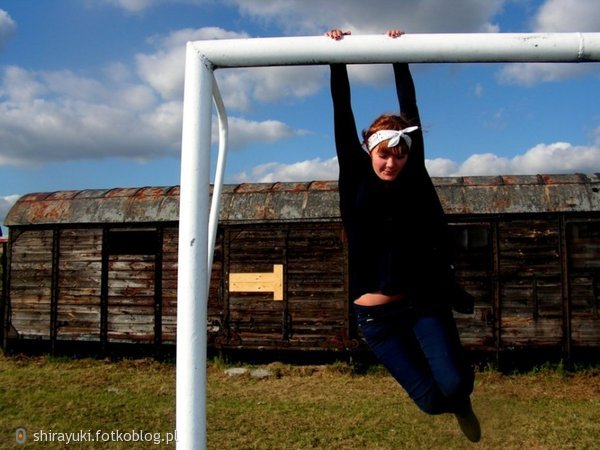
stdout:
[[(600, 175), (435, 178), (476, 297), (465, 345), (502, 355), (600, 349)], [(178, 187), (29, 194), (6, 218), (3, 345), (159, 354), (176, 340)], [(209, 345), (347, 352), (337, 183), (224, 187)], [(99, 349), (99, 350), (98, 350)]]

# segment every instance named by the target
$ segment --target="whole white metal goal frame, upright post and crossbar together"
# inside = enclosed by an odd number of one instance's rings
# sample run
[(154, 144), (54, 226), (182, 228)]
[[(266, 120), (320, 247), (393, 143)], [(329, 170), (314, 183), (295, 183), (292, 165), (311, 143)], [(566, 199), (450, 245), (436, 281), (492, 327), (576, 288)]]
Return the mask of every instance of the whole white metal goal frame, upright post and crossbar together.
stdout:
[(177, 448), (206, 448), (208, 256), (214, 250), (208, 224), (209, 168), (215, 69), (330, 63), (598, 61), (600, 33), (407, 34), (396, 39), (369, 35), (345, 36), (341, 41), (307, 36), (189, 42), (181, 142)]

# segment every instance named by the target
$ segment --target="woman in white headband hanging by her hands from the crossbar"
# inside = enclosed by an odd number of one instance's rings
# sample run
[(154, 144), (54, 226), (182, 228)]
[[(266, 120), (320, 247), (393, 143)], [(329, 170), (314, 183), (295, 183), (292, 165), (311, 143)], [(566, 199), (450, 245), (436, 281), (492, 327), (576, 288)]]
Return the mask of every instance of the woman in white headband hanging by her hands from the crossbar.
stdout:
[[(349, 32), (326, 33), (340, 40)], [(391, 38), (402, 33), (389, 31)], [(378, 360), (428, 414), (453, 413), (472, 442), (466, 361), (450, 296), (451, 239), (425, 169), (423, 133), (408, 64), (393, 64), (400, 115), (384, 114), (359, 140), (346, 66), (331, 65), (340, 211), (348, 236), (357, 324)]]

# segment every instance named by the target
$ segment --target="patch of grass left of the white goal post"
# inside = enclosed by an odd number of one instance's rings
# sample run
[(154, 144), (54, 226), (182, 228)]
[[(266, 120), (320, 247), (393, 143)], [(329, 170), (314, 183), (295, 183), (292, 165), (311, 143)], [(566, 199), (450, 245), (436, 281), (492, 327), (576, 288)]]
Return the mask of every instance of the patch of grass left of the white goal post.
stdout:
[[(0, 359), (0, 448), (16, 448), (15, 430), (25, 428), (32, 448), (36, 432), (144, 430), (172, 432), (174, 366), (150, 360), (111, 363), (47, 357)], [(165, 435), (166, 436), (166, 435)], [(13, 444), (12, 447), (7, 444)], [(148, 448), (148, 444), (79, 448)], [(24, 447), (29, 447), (25, 445)]]

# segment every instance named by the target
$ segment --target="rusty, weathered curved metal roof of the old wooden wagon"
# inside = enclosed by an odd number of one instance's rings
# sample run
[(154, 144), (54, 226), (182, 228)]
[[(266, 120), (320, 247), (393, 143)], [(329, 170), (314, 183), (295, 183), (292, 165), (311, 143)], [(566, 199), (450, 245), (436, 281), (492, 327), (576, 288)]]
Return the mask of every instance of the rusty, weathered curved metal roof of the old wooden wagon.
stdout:
[[(600, 211), (600, 174), (433, 178), (448, 214)], [(175, 222), (179, 187), (33, 193), (21, 197), (6, 226)], [(339, 220), (337, 182), (223, 186), (223, 223)]]

